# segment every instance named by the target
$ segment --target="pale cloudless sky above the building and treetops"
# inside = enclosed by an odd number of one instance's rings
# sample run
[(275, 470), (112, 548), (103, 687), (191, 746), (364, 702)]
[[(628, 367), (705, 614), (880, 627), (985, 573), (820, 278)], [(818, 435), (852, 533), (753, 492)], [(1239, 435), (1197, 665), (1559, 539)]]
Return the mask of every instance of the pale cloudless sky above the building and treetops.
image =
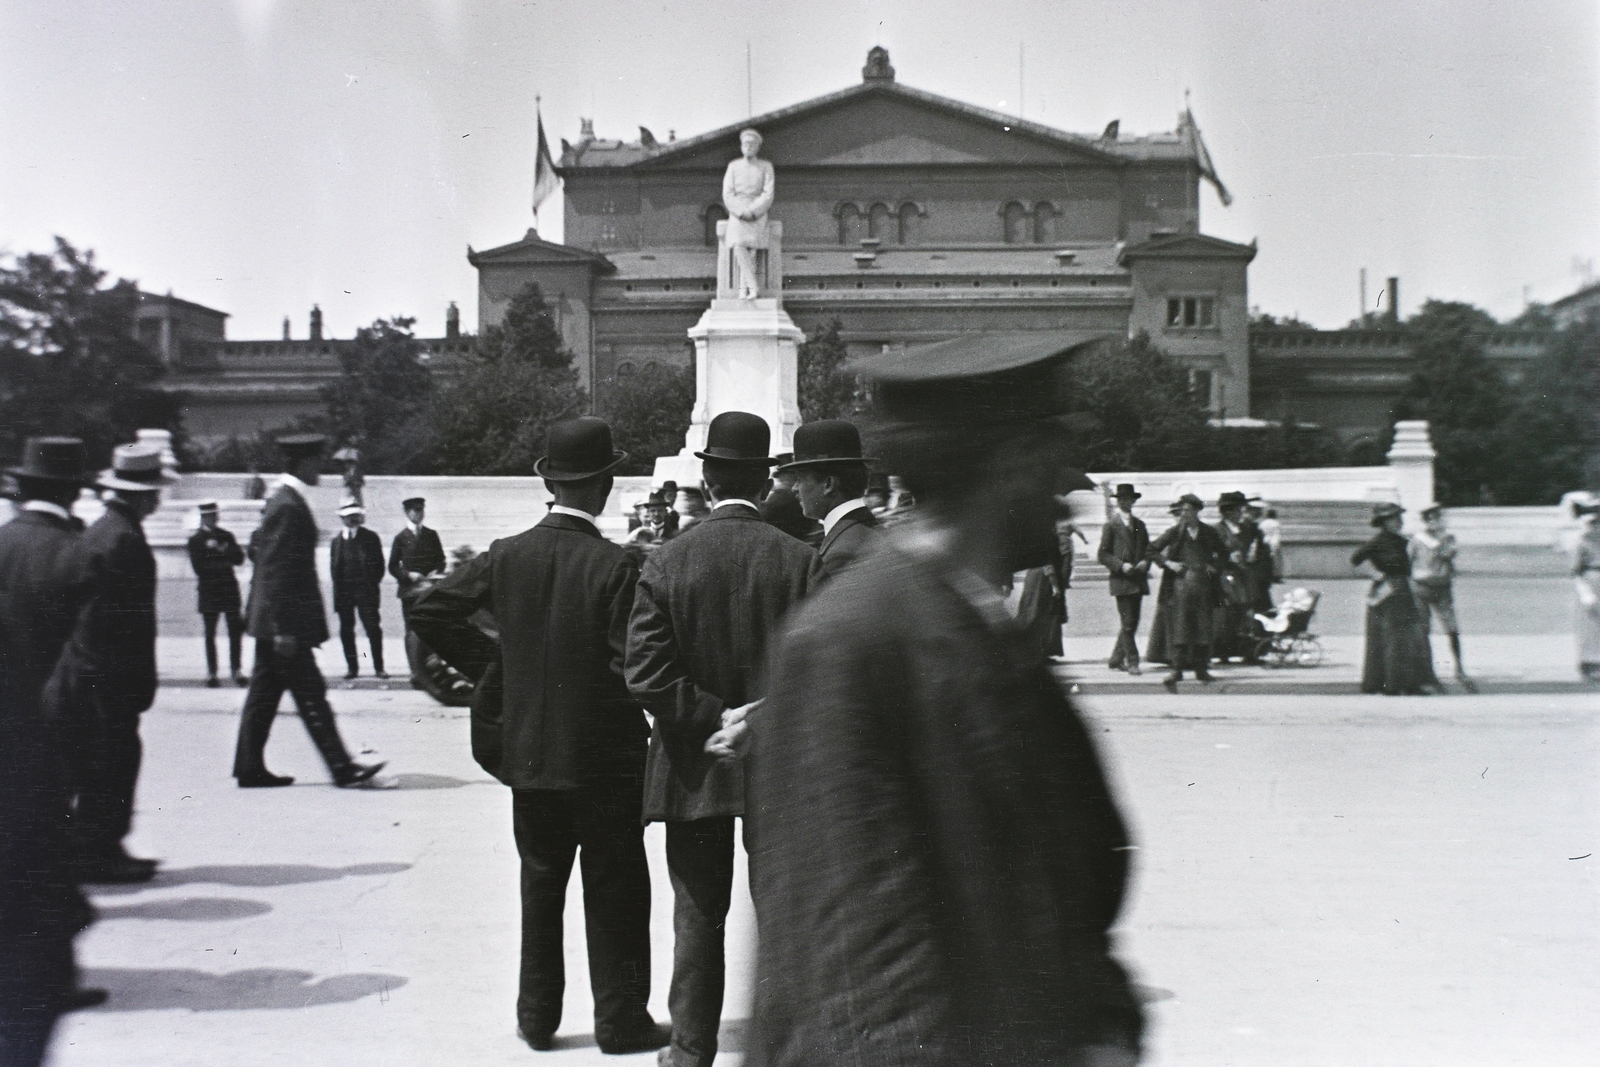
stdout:
[[(1341, 326), (1398, 275), (1512, 317), (1600, 261), (1600, 11), (1522, 0), (0, 0), (0, 253), (61, 235), (229, 336), (477, 325), (547, 136), (714, 130), (861, 80), (1074, 133), (1190, 102), (1250, 299)], [(749, 78), (746, 54), (749, 50)], [(560, 202), (539, 232), (560, 240)]]

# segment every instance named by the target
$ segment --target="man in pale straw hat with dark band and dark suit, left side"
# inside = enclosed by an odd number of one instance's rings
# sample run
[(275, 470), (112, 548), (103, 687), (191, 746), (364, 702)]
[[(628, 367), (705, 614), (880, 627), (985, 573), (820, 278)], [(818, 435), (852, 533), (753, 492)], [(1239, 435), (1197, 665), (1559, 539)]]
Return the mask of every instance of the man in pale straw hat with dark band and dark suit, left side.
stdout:
[(94, 486), (106, 510), (77, 542), (74, 566), (85, 587), (72, 638), (50, 681), (53, 715), (67, 737), (77, 792), (72, 824), (83, 881), (136, 883), (157, 861), (123, 848), (144, 745), (139, 717), (155, 702), (155, 553), (142, 522), (176, 478), (162, 450), (118, 445)]

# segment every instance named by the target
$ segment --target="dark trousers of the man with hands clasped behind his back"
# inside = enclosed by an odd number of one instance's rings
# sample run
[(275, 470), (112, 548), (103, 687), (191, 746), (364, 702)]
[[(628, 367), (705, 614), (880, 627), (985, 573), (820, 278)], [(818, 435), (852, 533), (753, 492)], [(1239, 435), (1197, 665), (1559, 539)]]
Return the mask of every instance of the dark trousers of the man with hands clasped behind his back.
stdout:
[(672, 878), (674, 1067), (710, 1067), (717, 1059), (726, 977), (723, 937), (733, 897), (733, 816), (667, 822)]

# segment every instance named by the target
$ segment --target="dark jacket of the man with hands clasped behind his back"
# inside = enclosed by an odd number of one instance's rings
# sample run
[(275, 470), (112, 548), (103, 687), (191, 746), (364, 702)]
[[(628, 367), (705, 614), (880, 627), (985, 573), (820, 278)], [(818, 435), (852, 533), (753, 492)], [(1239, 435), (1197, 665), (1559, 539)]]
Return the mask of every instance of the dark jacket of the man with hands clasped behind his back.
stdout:
[(816, 552), (742, 504), (715, 509), (648, 560), (627, 625), (627, 688), (654, 717), (645, 821), (744, 811), (744, 766), (704, 752), (723, 709), (765, 693), (778, 624), (816, 587)]

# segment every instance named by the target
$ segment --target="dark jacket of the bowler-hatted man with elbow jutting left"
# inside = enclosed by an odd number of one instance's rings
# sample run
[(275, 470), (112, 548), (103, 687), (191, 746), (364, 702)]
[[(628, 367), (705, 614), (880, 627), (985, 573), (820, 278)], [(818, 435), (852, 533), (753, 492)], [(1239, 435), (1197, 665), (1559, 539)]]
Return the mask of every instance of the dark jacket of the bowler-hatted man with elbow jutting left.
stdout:
[[(650, 728), (622, 681), (637, 577), (627, 552), (592, 525), (547, 515), (411, 605), (411, 629), (458, 670), (482, 680), (499, 664), (499, 707), (474, 702), (474, 755), (512, 789), (578, 789), (614, 774), (638, 787)], [(483, 608), (499, 625), (498, 648), (469, 622)]]

